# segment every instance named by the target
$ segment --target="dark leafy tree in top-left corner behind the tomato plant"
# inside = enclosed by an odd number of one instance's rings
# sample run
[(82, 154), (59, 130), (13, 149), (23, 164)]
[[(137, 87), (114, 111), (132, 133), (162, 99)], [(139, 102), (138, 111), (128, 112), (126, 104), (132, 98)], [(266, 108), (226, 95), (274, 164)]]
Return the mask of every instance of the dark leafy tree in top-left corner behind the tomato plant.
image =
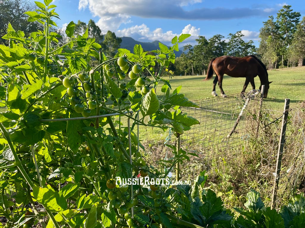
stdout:
[(34, 9), (36, 6), (29, 0), (0, 0), (0, 44), (5, 43), (1, 37), (6, 34), (9, 22), (16, 31), (23, 31), (25, 36), (43, 29), (41, 24), (27, 21), (28, 16), (24, 12)]

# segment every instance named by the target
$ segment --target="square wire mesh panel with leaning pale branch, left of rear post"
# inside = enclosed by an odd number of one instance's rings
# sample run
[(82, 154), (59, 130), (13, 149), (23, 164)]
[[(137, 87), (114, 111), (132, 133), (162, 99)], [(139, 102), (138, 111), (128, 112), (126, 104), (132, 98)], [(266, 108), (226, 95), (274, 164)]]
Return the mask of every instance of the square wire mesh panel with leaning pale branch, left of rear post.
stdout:
[[(223, 163), (224, 156), (240, 156), (248, 140), (257, 133), (260, 115), (260, 92), (229, 95), (195, 101), (199, 108), (181, 107), (182, 112), (199, 120), (180, 137), (181, 149), (197, 154), (181, 167), (181, 178), (209, 171)], [(247, 121), (251, 119), (251, 121)], [(173, 139), (173, 137), (171, 137)], [(176, 144), (177, 139), (171, 144)]]

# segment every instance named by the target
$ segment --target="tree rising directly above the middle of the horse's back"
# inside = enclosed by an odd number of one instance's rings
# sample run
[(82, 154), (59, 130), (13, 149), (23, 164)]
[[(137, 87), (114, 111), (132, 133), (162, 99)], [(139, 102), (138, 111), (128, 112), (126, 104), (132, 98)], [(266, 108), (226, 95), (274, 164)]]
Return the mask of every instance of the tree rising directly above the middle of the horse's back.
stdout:
[(235, 57), (244, 57), (249, 54), (256, 53), (256, 47), (253, 44), (253, 41), (245, 42), (242, 40), (244, 35), (241, 31), (238, 31), (235, 34), (230, 33), (228, 35), (228, 49), (226, 51), (226, 55), (231, 55)]

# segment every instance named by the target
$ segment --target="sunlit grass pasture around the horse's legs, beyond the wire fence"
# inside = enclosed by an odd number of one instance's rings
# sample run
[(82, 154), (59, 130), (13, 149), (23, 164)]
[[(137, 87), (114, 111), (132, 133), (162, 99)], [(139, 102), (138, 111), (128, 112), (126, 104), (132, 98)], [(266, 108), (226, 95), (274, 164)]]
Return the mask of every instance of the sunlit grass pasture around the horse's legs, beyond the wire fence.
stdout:
[[(268, 71), (270, 89), (268, 97), (264, 98), (264, 103), (272, 110), (282, 111), (284, 109), (285, 98), (290, 99), (291, 106), (298, 106), (305, 100), (305, 66), (295, 68), (284, 68)], [(204, 98), (213, 98), (212, 85), (213, 79), (203, 81), (205, 75), (195, 76), (174, 76), (170, 79), (172, 88), (182, 85), (181, 93), (184, 93), (189, 100), (200, 100)], [(240, 93), (244, 85), (245, 78), (232, 78), (224, 76), (222, 88), (227, 95)], [(260, 80), (255, 78), (256, 89), (260, 86)], [(250, 91), (249, 84), (246, 92)], [(218, 85), (216, 86), (217, 94), (220, 94)]]

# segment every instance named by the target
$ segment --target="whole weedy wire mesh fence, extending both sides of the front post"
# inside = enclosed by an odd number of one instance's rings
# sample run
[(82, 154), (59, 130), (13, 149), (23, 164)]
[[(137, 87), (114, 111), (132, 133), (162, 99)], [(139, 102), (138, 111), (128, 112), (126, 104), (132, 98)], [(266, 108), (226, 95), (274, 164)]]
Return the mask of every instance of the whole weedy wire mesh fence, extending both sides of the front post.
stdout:
[[(259, 94), (244, 97), (234, 94), (195, 101), (200, 107), (196, 109), (181, 107), (182, 112), (198, 119), (200, 125), (181, 135), (180, 148), (197, 156), (190, 156), (180, 166), (180, 178), (194, 179), (202, 171), (208, 172), (209, 179), (222, 175), (222, 179), (231, 182), (233, 192), (240, 186), (255, 188), (268, 202), (283, 112), (270, 110), (261, 101)], [(177, 145), (173, 135), (168, 138), (171, 139), (168, 143)], [(304, 163), (305, 105), (301, 104), (289, 110), (275, 208), (285, 204), (294, 193), (305, 191)]]

